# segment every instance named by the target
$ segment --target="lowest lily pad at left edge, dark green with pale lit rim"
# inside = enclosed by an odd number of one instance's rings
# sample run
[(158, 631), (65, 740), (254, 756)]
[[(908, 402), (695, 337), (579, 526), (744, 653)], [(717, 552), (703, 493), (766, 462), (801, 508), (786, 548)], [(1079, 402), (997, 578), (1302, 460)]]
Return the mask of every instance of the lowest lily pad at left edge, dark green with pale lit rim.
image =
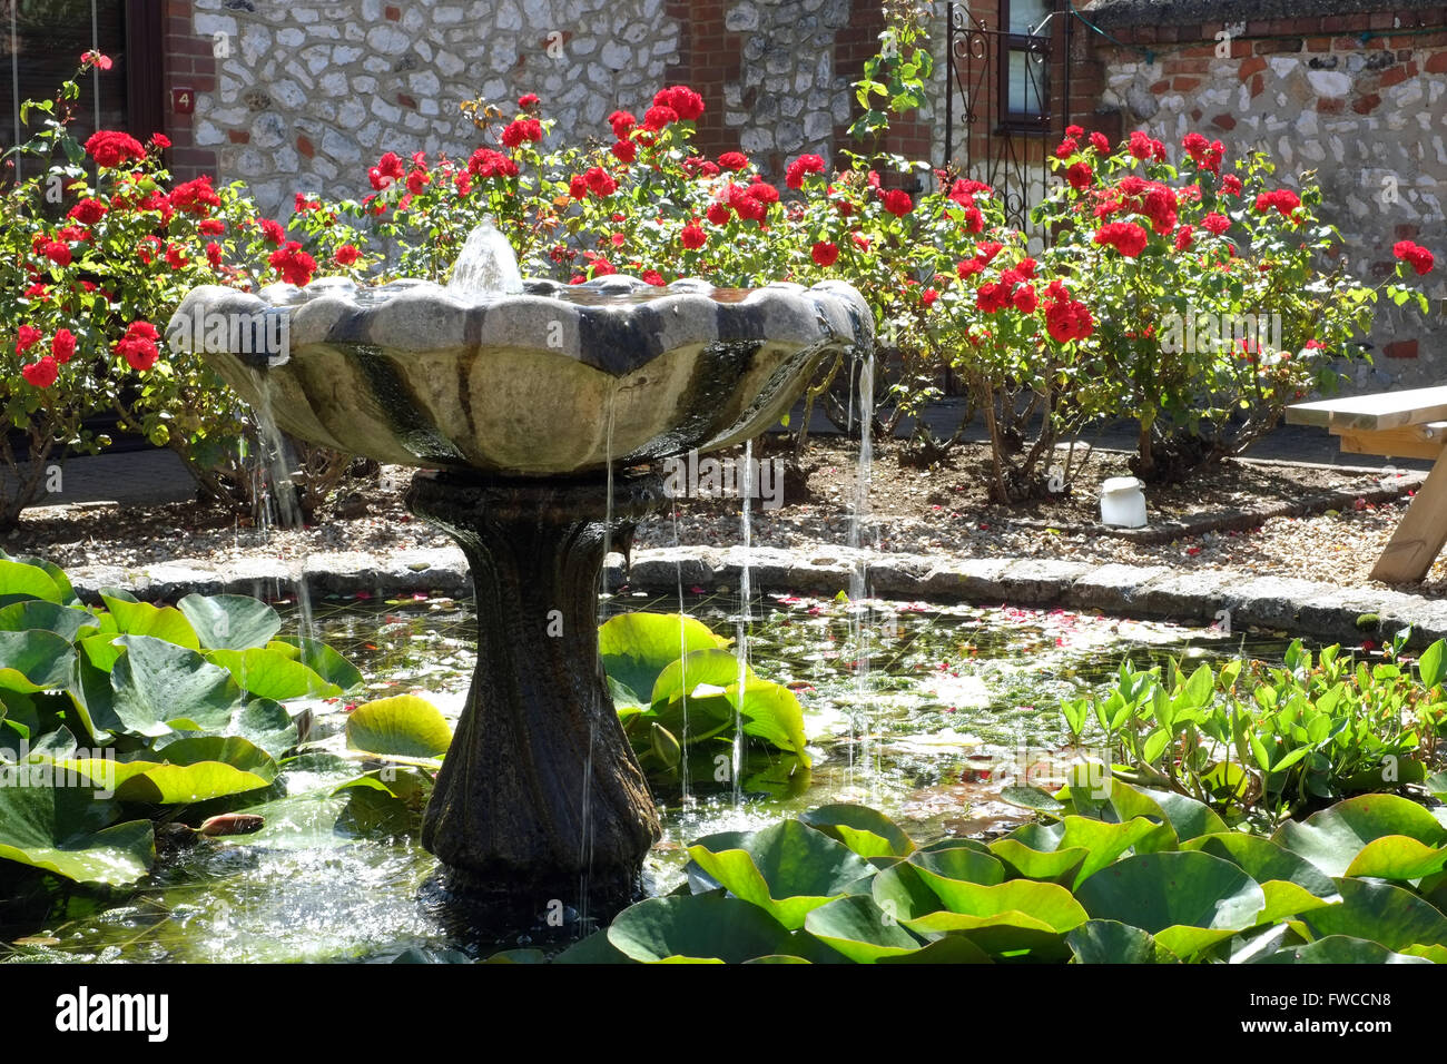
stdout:
[(90, 788), (0, 786), (0, 858), (78, 883), (135, 883), (155, 863), (150, 821), (111, 825), (116, 803)]

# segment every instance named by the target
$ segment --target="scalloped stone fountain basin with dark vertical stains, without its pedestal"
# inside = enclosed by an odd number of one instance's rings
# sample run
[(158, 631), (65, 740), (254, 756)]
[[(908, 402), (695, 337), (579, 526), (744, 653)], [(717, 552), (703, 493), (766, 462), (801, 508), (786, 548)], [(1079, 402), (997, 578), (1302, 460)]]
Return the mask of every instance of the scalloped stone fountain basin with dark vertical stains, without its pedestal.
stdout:
[[(289, 352), (265, 371), (210, 329), (287, 308)], [(873, 340), (849, 285), (655, 288), (608, 276), (522, 294), (324, 278), (252, 295), (191, 291), (168, 340), (195, 342), (291, 436), (379, 462), (577, 476), (742, 443), (776, 423), (819, 362)], [(220, 336), (220, 333), (217, 333)]]

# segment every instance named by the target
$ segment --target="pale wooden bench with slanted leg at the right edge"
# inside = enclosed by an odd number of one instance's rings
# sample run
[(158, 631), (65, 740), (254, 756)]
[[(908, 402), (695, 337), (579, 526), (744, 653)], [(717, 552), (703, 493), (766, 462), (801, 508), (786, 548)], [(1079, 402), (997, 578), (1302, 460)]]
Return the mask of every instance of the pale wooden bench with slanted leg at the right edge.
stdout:
[(1425, 457), (1435, 465), (1372, 569), (1383, 583), (1415, 583), (1447, 546), (1447, 388), (1417, 388), (1286, 407), (1286, 424), (1320, 426), (1349, 455)]

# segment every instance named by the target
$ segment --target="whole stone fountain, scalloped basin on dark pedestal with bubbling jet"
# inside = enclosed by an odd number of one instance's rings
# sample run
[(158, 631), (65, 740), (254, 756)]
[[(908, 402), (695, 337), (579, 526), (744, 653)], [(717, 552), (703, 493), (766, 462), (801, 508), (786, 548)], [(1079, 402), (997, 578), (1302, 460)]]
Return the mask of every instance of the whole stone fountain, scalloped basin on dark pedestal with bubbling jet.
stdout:
[(408, 508), (462, 544), (478, 667), (423, 827), (449, 884), (622, 905), (660, 828), (598, 656), (605, 544), (667, 504), (661, 459), (777, 423), (873, 317), (841, 282), (522, 282), (479, 233), (451, 287), (208, 285), (168, 339), (288, 434), (420, 468)]

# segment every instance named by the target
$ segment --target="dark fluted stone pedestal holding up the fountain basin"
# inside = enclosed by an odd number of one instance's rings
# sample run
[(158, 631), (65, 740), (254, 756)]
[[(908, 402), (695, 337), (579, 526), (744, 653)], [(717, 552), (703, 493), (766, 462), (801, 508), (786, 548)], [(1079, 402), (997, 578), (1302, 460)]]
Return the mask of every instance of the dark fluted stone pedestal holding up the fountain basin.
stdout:
[[(531, 912), (628, 903), (660, 835), (598, 656), (608, 494), (605, 478), (463, 473), (417, 473), (407, 494), (462, 544), (478, 599), (478, 669), (423, 845), (451, 886)], [(619, 478), (611, 517), (664, 504), (661, 478)]]

